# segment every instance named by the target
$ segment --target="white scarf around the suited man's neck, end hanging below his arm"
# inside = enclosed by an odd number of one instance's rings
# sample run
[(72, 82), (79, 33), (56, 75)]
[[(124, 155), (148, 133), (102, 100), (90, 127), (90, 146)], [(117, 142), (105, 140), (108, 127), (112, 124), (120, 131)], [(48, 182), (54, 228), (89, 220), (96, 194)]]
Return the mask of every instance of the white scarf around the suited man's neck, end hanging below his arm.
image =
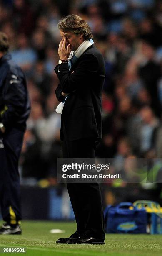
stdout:
[[(69, 58), (68, 58), (68, 65), (69, 65), (69, 70), (71, 69), (72, 65), (75, 64), (75, 62), (77, 61), (77, 59), (79, 59), (79, 57), (87, 50), (88, 47), (90, 47), (92, 44), (94, 44), (93, 40), (85, 40), (84, 42), (82, 42), (82, 44), (80, 44), (80, 46), (77, 48), (76, 51), (71, 51)], [(68, 96), (67, 96), (68, 97)], [(67, 99), (67, 97), (65, 98), (65, 100)], [(62, 114), (62, 110), (64, 107), (64, 102), (61, 102), (57, 108), (56, 108), (56, 112), (59, 114)]]

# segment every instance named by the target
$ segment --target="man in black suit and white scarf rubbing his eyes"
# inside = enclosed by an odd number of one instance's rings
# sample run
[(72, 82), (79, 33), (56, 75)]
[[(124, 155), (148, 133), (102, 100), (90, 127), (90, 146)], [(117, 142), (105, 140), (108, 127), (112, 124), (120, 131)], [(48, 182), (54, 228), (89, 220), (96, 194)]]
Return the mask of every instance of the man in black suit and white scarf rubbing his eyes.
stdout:
[[(62, 40), (55, 68), (60, 84), (56, 97), (61, 103), (61, 132), (64, 158), (95, 158), (95, 146), (102, 137), (102, 87), (105, 64), (93, 44), (90, 27), (77, 15), (58, 24)], [(77, 231), (57, 243), (104, 244), (105, 232), (100, 187), (67, 184)]]

